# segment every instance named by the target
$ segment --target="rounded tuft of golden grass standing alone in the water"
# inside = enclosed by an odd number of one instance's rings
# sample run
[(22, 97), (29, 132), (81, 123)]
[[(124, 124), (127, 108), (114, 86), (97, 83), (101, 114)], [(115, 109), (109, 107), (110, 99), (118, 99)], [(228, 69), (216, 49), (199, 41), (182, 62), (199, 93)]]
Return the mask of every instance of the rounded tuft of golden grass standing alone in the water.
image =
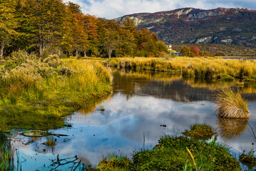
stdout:
[(247, 101), (242, 95), (231, 88), (220, 90), (215, 98), (217, 103), (217, 116), (222, 118), (249, 118), (250, 111), (247, 107)]

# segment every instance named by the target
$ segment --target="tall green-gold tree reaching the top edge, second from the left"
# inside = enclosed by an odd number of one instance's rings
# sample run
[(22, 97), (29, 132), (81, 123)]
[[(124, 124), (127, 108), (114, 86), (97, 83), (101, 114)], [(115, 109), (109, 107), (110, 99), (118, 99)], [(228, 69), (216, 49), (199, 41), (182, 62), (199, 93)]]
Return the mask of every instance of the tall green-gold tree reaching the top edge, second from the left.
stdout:
[(61, 43), (66, 7), (61, 0), (24, 0), (22, 11), (26, 15), (24, 29), (31, 34), (31, 43), (41, 55), (51, 46)]

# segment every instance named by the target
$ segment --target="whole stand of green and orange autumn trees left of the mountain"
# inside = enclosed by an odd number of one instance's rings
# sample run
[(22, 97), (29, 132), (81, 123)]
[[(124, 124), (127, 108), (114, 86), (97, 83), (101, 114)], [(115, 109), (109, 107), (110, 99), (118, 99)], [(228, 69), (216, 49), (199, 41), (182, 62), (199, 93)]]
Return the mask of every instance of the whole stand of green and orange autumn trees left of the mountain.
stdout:
[(61, 0), (1, 0), (0, 58), (26, 50), (40, 56), (159, 56), (165, 43), (155, 33), (137, 30), (133, 21), (83, 14), (78, 4)]

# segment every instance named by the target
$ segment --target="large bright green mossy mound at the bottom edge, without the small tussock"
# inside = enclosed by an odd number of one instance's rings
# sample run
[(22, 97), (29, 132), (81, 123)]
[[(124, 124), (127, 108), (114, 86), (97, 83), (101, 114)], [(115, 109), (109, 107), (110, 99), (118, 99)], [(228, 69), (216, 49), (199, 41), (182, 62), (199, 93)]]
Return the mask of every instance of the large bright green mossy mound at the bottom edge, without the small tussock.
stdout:
[(239, 162), (225, 147), (184, 137), (161, 138), (153, 150), (133, 156), (136, 170), (194, 170), (188, 150), (200, 170), (240, 170)]

